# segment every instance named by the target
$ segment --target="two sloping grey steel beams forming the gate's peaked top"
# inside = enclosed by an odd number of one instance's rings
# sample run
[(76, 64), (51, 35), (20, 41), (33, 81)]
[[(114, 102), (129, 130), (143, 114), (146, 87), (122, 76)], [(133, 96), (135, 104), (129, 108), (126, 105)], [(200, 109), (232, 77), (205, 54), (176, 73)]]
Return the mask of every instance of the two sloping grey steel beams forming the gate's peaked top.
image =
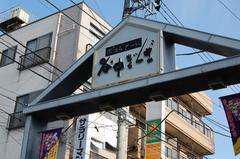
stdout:
[[(114, 32), (126, 24), (151, 26), (154, 29), (163, 31), (165, 41), (178, 43), (196, 49), (213, 52), (218, 55), (230, 57), (240, 55), (240, 41), (219, 35), (209, 34), (193, 29), (187, 29), (175, 25), (146, 20), (137, 17), (128, 17), (109, 34), (107, 34), (93, 49), (84, 54), (74, 63), (62, 76), (54, 81), (44, 92), (34, 100), (33, 104), (71, 95), (79, 86), (91, 77), (93, 54), (96, 48), (102, 46), (109, 40)], [(164, 59), (166, 60), (166, 59)]]

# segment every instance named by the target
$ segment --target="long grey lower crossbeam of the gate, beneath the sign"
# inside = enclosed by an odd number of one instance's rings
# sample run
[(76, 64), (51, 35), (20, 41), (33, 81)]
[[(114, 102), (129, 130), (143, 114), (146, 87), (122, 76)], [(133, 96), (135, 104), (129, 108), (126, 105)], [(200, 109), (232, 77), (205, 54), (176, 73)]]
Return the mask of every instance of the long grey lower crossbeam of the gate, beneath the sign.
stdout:
[(68, 116), (99, 112), (126, 105), (152, 101), (152, 98), (173, 97), (210, 89), (209, 81), (225, 85), (240, 82), (240, 56), (167, 72), (118, 86), (97, 89), (79, 95), (40, 102), (24, 109), (24, 113), (57, 120), (60, 112)]

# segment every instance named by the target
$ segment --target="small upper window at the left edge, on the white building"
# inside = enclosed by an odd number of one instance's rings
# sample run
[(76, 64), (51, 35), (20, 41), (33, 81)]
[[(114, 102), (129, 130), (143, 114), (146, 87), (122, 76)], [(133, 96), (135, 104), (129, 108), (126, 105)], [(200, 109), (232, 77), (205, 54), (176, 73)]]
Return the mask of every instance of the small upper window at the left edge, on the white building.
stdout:
[(0, 66), (6, 66), (8, 64), (13, 63), (14, 61), (12, 59), (15, 59), (16, 50), (17, 50), (17, 46), (4, 50), (2, 52)]

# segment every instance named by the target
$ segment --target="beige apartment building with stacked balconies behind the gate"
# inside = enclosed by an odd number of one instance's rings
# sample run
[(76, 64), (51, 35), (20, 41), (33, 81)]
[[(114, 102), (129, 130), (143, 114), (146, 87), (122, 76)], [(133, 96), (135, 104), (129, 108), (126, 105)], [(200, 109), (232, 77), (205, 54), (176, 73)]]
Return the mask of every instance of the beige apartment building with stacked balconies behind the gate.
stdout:
[[(169, 98), (162, 102), (165, 109), (165, 131), (161, 132), (161, 156), (166, 159), (202, 159), (214, 154), (214, 132), (203, 122), (213, 112), (211, 99), (203, 92)], [(129, 128), (129, 159), (143, 158), (145, 140), (146, 104), (130, 107), (137, 117), (138, 126)], [(141, 127), (141, 129), (139, 129)], [(136, 146), (140, 145), (140, 146)]]

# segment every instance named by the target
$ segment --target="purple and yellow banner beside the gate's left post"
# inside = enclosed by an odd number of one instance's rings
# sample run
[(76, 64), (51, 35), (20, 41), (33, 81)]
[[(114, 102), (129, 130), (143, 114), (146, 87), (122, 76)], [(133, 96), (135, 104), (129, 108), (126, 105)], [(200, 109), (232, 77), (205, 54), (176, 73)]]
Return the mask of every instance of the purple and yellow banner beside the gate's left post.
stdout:
[(44, 131), (40, 144), (39, 159), (57, 159), (62, 128)]

